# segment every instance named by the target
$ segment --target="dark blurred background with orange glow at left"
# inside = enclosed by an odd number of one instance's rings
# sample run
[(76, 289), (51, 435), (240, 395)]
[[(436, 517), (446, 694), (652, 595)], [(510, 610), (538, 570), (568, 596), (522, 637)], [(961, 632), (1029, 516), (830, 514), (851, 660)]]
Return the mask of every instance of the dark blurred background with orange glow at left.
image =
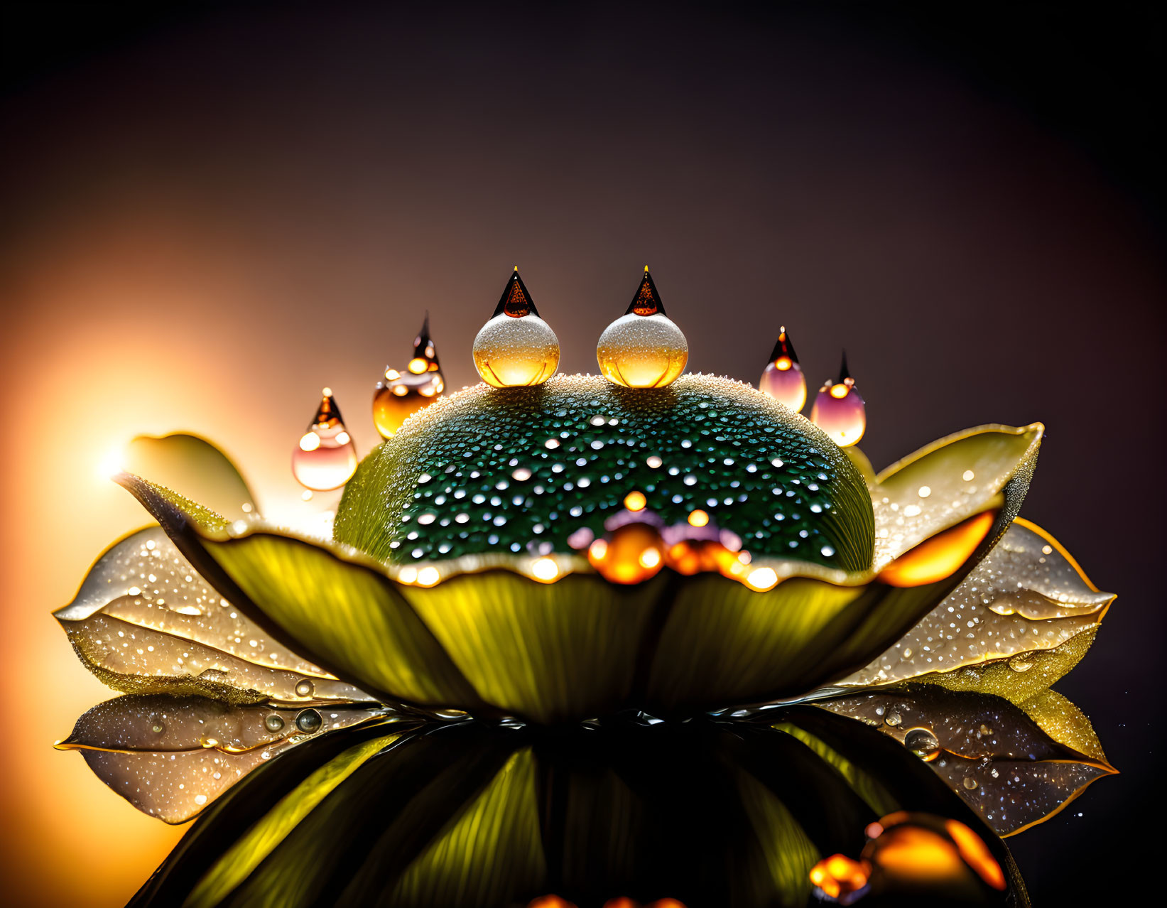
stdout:
[(95, 465), (191, 428), (291, 512), (319, 389), (368, 450), (372, 383), (426, 308), (448, 385), (477, 380), (470, 341), (516, 263), (566, 371), (594, 368), (644, 263), (694, 371), (756, 380), (781, 323), (812, 383), (846, 347), (876, 467), (1043, 420), (1023, 514), (1119, 594), (1056, 687), (1121, 775), (1009, 845), (1039, 906), (1153, 875), (1162, 5), (0, 18), (0, 853), (18, 903), (120, 903), (177, 834), (48, 749), (104, 696), (48, 610), (142, 522)]

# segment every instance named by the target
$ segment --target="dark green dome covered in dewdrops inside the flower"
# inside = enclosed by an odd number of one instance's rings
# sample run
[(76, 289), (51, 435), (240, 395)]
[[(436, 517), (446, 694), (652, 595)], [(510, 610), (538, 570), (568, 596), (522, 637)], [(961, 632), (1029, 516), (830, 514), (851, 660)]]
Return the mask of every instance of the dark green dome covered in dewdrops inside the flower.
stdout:
[(705, 511), (756, 557), (871, 566), (871, 498), (847, 455), (760, 391), (703, 375), (662, 389), (560, 375), (443, 398), (364, 459), (335, 535), (394, 564), (571, 552), (633, 491), (665, 526)]

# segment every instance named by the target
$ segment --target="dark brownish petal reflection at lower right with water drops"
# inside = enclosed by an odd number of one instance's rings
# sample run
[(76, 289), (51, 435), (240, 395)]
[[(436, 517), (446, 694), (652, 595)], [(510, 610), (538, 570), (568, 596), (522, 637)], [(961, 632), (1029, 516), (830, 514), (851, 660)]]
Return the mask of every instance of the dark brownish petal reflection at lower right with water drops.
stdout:
[[(1000, 697), (936, 685), (869, 691), (818, 705), (878, 727), (900, 743), (910, 743), (921, 729), (932, 735), (939, 749), (928, 766), (1002, 836), (1048, 819), (1090, 782), (1114, 771), (1089, 720), (1061, 698), (1033, 703), (1044, 727)], [(1065, 743), (1091, 739), (1093, 753)]]

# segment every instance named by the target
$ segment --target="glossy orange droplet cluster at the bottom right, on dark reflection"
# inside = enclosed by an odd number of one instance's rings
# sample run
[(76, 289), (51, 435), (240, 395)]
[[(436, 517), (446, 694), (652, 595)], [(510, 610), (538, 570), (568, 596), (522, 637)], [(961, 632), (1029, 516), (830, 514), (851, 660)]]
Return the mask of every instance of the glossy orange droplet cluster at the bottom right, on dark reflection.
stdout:
[(984, 839), (964, 823), (897, 811), (868, 824), (858, 860), (832, 854), (810, 869), (822, 895), (851, 904), (868, 890), (967, 890), (981, 883), (1004, 892), (1006, 881)]

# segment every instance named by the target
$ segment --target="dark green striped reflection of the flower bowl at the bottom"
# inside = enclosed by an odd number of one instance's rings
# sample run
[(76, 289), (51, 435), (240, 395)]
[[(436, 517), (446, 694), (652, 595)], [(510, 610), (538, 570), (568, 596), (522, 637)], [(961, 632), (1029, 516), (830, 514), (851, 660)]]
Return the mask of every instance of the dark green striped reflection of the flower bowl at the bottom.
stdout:
[[(813, 862), (857, 854), (879, 816), (850, 781), (866, 774), (892, 806), (984, 839), (1009, 890), (977, 888), (972, 903), (1026, 904), (1000, 840), (902, 746), (822, 710), (778, 718), (832, 759), (740, 722), (351, 729), (347, 748), (329, 735), (223, 798), (133, 903), (503, 908), (552, 893), (576, 904), (802, 903)], [(949, 893), (913, 885), (941, 903)]]

